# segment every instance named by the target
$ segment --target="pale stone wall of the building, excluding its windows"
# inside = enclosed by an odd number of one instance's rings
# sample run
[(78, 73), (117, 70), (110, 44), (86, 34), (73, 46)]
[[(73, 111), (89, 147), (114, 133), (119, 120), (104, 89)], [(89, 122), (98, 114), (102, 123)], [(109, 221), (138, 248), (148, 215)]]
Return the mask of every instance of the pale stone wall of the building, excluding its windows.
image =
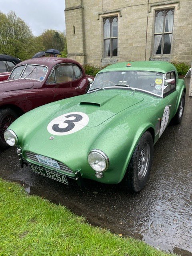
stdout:
[[(172, 49), (154, 57), (155, 10), (174, 7)], [(118, 57), (104, 58), (103, 17), (118, 16)], [(116, 61), (192, 61), (192, 0), (66, 0), (68, 58), (94, 66)], [(75, 34), (73, 31), (75, 27)]]

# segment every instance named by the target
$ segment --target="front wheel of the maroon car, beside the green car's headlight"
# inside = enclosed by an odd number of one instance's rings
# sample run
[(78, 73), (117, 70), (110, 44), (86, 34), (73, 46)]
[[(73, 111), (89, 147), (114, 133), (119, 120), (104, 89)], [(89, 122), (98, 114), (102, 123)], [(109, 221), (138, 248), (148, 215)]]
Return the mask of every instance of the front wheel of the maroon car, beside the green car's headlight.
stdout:
[(18, 114), (12, 109), (5, 108), (0, 110), (0, 149), (9, 147), (4, 140), (4, 132), (16, 118), (18, 118)]

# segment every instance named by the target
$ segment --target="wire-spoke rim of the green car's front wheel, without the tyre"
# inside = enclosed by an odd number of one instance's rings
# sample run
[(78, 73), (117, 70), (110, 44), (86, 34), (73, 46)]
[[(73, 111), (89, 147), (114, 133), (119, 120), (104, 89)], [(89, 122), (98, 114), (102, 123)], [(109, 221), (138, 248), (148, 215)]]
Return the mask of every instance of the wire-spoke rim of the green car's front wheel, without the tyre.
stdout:
[(138, 179), (142, 180), (146, 175), (148, 170), (150, 160), (150, 144), (149, 142), (145, 142), (140, 151), (139, 160), (138, 160)]

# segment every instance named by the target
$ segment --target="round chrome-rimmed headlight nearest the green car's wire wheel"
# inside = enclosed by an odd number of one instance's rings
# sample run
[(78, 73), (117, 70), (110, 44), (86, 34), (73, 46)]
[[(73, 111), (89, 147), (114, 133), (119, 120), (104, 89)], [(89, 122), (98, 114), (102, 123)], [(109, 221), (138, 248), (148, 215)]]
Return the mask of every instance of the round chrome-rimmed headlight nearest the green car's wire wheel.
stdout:
[(109, 167), (108, 156), (98, 149), (93, 149), (88, 154), (88, 162), (96, 172), (104, 172)]

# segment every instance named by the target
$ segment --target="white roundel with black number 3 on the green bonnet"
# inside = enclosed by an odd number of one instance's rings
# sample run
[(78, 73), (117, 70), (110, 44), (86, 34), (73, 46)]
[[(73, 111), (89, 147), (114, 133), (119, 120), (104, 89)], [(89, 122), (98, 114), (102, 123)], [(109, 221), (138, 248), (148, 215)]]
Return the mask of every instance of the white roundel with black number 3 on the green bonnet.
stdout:
[(68, 135), (78, 132), (89, 122), (89, 117), (82, 112), (70, 112), (54, 118), (47, 126), (48, 132), (54, 135)]

